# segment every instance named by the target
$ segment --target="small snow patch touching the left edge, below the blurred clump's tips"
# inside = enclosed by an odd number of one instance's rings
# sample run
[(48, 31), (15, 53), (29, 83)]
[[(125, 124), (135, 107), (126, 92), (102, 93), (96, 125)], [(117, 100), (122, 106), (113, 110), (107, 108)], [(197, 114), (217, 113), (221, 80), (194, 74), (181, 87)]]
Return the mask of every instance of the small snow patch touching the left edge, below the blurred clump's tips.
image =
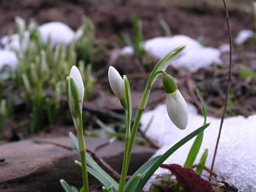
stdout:
[(14, 52), (8, 50), (0, 50), (0, 70), (8, 65), (11, 68), (15, 68), (18, 64), (18, 59)]

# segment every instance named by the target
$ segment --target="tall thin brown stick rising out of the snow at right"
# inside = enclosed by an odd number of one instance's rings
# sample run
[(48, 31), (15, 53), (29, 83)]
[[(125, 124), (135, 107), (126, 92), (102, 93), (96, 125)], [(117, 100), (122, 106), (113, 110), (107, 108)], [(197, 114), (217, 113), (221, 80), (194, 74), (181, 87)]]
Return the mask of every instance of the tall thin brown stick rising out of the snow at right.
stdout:
[(223, 114), (222, 114), (222, 117), (221, 117), (219, 135), (218, 135), (217, 143), (216, 143), (216, 146), (215, 146), (214, 159), (212, 159), (212, 163), (211, 163), (211, 170), (214, 169), (214, 162), (215, 162), (215, 158), (216, 158), (216, 154), (217, 154), (217, 150), (218, 150), (218, 145), (219, 145), (219, 140), (220, 140), (220, 136), (221, 136), (222, 124), (223, 124), (224, 117), (225, 117), (225, 114), (226, 114), (227, 101), (228, 101), (229, 89), (230, 89), (230, 84), (231, 84), (231, 72), (232, 72), (232, 50), (233, 50), (232, 35), (231, 35), (230, 26), (229, 26), (228, 9), (227, 9), (227, 5), (226, 5), (225, 0), (223, 0), (223, 4), (224, 4), (224, 8), (225, 8), (227, 30), (228, 30), (228, 35), (229, 35), (229, 49), (230, 49), (229, 50), (229, 72), (228, 72), (228, 83), (227, 83), (227, 90), (226, 90), (226, 100), (225, 100)]

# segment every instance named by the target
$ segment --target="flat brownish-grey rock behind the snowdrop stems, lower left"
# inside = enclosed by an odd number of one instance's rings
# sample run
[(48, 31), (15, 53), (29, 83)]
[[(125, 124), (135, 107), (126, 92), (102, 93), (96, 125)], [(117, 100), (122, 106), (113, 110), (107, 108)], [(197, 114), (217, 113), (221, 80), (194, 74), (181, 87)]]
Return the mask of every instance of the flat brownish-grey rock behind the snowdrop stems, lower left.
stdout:
[[(108, 144), (102, 138), (86, 138), (87, 149), (94, 151), (118, 172), (121, 170), (124, 143)], [(155, 153), (150, 147), (135, 146), (130, 163), (134, 172)], [(76, 187), (82, 185), (81, 170), (74, 164), (78, 153), (68, 137), (35, 138), (0, 146), (0, 191), (63, 191), (59, 180)], [(95, 179), (89, 178), (90, 183)]]

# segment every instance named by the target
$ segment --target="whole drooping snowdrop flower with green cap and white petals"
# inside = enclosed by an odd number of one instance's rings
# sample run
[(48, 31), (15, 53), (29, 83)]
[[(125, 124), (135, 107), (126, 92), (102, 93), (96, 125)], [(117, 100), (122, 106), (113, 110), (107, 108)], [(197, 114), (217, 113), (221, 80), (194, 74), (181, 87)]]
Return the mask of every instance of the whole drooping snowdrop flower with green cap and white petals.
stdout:
[(187, 104), (177, 89), (174, 78), (170, 75), (165, 75), (163, 78), (163, 87), (166, 92), (166, 106), (170, 120), (180, 130), (186, 129), (188, 122)]

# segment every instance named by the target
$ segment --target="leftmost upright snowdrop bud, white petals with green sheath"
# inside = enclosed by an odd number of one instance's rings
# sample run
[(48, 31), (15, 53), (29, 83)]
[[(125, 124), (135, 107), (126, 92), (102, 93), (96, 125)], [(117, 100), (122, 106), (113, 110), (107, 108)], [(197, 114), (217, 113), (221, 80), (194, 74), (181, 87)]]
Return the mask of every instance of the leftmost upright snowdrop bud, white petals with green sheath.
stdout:
[[(69, 109), (76, 126), (79, 125), (79, 117), (82, 113), (82, 101), (84, 94), (84, 86), (82, 77), (76, 66), (73, 66), (70, 70), (70, 74), (66, 79), (66, 94), (69, 104)], [(80, 114), (78, 113), (80, 112)]]

